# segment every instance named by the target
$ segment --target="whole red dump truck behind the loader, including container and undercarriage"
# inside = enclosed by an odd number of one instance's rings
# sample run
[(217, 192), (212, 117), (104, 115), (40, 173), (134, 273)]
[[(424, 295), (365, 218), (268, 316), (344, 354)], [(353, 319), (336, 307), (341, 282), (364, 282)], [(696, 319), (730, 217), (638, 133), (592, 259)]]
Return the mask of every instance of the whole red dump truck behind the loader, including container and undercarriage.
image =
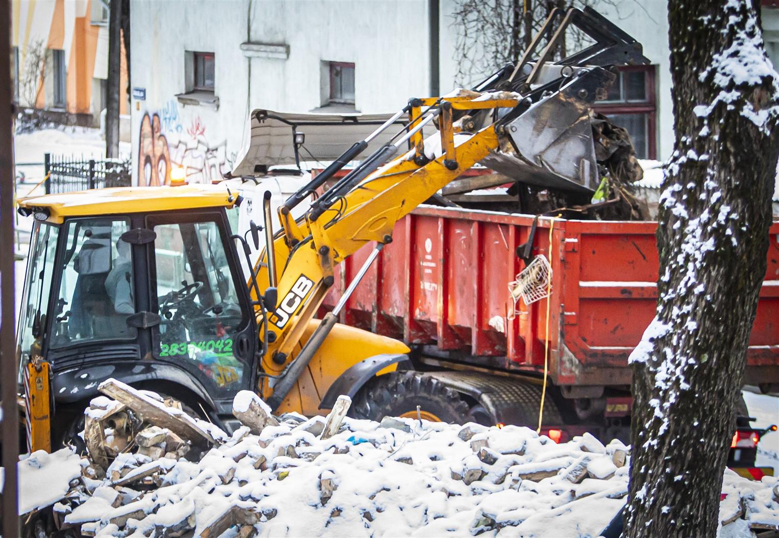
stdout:
[[(627, 442), (627, 361), (654, 317), (656, 229), (420, 206), (397, 223), (340, 321), (403, 340), (414, 370), (482, 403), (484, 413), (468, 418), (485, 424), (538, 424), (546, 353), (542, 430), (555, 441), (590, 431)], [(770, 238), (746, 368), (746, 383), (764, 392), (779, 388), (779, 223)], [(323, 308), (333, 307), (371, 249), (340, 265)], [(551, 300), (515, 307), (509, 283), (527, 253), (551, 261)], [(731, 466), (754, 466), (760, 433), (739, 419)]]

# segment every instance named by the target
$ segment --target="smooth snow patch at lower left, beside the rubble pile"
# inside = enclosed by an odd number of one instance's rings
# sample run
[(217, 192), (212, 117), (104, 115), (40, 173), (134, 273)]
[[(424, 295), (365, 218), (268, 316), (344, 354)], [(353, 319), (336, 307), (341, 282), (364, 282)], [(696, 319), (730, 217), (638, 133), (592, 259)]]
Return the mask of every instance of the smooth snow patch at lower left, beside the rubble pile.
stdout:
[(81, 476), (81, 458), (69, 448), (48, 454), (33, 452), (19, 462), (19, 514), (53, 505), (69, 490), (69, 483)]

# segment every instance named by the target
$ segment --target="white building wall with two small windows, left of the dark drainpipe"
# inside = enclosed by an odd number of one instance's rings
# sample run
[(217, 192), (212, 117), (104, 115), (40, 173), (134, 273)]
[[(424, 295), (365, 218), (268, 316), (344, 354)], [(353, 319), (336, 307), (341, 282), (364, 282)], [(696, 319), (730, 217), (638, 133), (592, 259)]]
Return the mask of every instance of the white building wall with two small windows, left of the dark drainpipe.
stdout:
[[(146, 91), (145, 100), (132, 98), (136, 183), (146, 160), (163, 171), (185, 166), (189, 181), (219, 179), (240, 156), (253, 108), (301, 112), (323, 104), (322, 62), (355, 64), (361, 112), (395, 111), (428, 93), (425, 0), (137, 2), (131, 17), (132, 87)], [(246, 41), (286, 44), (289, 57), (246, 58)], [(218, 109), (175, 97), (185, 92), (185, 51), (215, 54)]]

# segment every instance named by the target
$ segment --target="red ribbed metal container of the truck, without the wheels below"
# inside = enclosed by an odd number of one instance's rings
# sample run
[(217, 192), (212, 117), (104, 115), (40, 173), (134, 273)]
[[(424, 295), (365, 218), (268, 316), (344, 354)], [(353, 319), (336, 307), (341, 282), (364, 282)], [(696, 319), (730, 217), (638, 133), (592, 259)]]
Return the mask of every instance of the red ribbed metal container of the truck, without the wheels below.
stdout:
[[(524, 267), (516, 247), (534, 217), (421, 206), (397, 223), (341, 312), (341, 322), (428, 346), (454, 360), (543, 371), (547, 301), (513, 319), (509, 282)], [(533, 254), (550, 256), (551, 219), (538, 220)], [(555, 385), (629, 385), (627, 357), (654, 317), (655, 222), (555, 220), (549, 304), (549, 374)], [(372, 245), (337, 269), (333, 308)], [(724, 328), (724, 330), (727, 330)], [(749, 345), (747, 383), (779, 382), (779, 223)]]

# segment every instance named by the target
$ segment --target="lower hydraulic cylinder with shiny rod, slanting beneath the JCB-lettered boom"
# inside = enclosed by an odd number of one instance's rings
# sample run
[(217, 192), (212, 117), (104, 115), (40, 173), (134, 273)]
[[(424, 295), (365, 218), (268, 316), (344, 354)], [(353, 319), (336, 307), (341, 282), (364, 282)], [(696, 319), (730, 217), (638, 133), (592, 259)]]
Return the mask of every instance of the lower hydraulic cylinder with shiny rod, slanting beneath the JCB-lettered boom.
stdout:
[(317, 352), (317, 350), (319, 350), (319, 347), (322, 346), (322, 343), (327, 338), (327, 335), (329, 335), (330, 331), (333, 329), (333, 325), (338, 322), (338, 315), (340, 314), (340, 311), (344, 309), (344, 306), (346, 306), (346, 301), (348, 301), (351, 294), (354, 293), (354, 290), (357, 288), (360, 280), (362, 280), (362, 277), (365, 276), (365, 273), (368, 272), (368, 269), (373, 263), (373, 260), (375, 260), (376, 256), (379, 255), (379, 252), (382, 250), (382, 248), (384, 248), (384, 243), (376, 244), (375, 248), (371, 251), (371, 254), (368, 255), (368, 259), (366, 259), (365, 263), (362, 264), (362, 267), (354, 276), (354, 279), (349, 284), (349, 287), (347, 287), (346, 291), (344, 291), (344, 294), (338, 300), (336, 307), (333, 308), (333, 311), (327, 312), (325, 317), (322, 318), (322, 322), (319, 323), (319, 327), (315, 329), (311, 335), (311, 338), (308, 339), (308, 342), (305, 343), (303, 349), (300, 351), (300, 353), (298, 353), (298, 357), (295, 358), (293, 363), (287, 369), (287, 373), (284, 374), (284, 378), (281, 378), (280, 382), (278, 382), (276, 386), (273, 387), (273, 395), (268, 399), (268, 405), (270, 406), (270, 409), (276, 410), (277, 407), (280, 406), (284, 401), (284, 398), (287, 397), (287, 394), (289, 394), (292, 387), (294, 387), (294, 384), (298, 382), (298, 378), (300, 378), (300, 374), (303, 373), (303, 369), (308, 366), (309, 362), (311, 362), (314, 354)]

